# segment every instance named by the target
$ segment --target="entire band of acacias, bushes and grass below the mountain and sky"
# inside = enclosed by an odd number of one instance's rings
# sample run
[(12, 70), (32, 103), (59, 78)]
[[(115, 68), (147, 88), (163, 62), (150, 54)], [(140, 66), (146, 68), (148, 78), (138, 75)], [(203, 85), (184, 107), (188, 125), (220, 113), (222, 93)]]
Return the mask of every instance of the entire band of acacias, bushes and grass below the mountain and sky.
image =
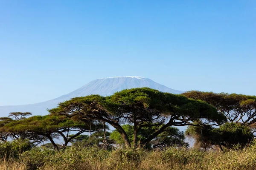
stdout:
[(256, 167), (256, 96), (134, 88), (106, 97), (76, 97), (48, 111), (0, 118), (0, 169)]

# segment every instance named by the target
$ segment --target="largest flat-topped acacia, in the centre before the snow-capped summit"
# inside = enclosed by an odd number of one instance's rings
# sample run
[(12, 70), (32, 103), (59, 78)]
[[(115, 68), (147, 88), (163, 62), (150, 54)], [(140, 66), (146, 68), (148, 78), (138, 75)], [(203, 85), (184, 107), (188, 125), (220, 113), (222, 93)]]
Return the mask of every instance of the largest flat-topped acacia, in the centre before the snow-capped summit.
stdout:
[(116, 92), (112, 96), (90, 95), (59, 103), (49, 110), (52, 115), (76, 116), (84, 120), (98, 120), (112, 125), (122, 136), (125, 146), (131, 146), (121, 125), (134, 125), (134, 147), (138, 145), (138, 131), (142, 127), (157, 127), (140, 144), (148, 144), (170, 126), (202, 124), (217, 125), (226, 121), (223, 114), (200, 100), (182, 95), (163, 93), (151, 88), (133, 88)]

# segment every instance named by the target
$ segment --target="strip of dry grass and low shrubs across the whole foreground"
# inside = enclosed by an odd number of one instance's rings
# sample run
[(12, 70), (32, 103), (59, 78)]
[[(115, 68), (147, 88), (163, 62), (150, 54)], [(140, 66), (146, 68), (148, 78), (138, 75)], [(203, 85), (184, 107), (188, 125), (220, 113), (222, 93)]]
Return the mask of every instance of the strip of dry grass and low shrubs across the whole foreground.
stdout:
[(55, 152), (35, 147), (14, 159), (2, 159), (0, 170), (255, 170), (256, 143), (224, 153), (170, 147), (164, 151), (99, 147)]

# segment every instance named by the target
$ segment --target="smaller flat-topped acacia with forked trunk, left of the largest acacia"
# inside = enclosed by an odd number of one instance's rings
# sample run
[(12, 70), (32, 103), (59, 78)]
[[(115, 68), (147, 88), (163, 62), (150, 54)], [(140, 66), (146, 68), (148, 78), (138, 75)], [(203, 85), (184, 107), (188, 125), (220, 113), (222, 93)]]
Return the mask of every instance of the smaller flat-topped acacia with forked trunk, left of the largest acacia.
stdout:
[[(100, 125), (98, 125), (99, 127)], [(41, 136), (47, 138), (59, 150), (59, 146), (54, 142), (54, 138), (62, 137), (65, 148), (67, 144), (84, 132), (93, 132), (97, 129), (93, 122), (77, 120), (74, 116), (69, 119), (66, 116), (31, 116), (27, 119), (10, 122), (0, 128), (1, 131), (9, 133), (20, 133), (26, 136)], [(70, 133), (75, 134), (71, 135)]]

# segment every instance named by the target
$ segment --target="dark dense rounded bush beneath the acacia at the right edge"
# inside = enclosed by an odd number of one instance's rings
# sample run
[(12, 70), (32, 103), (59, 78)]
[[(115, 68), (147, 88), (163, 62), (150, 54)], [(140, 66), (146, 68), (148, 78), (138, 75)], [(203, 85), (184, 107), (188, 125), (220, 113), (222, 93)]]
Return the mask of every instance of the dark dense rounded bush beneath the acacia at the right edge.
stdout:
[(235, 144), (240, 147), (246, 146), (253, 140), (253, 133), (250, 127), (241, 123), (225, 123), (220, 127), (210, 126), (189, 126), (186, 135), (195, 139), (195, 147), (202, 147), (204, 150), (217, 146), (223, 151), (222, 146), (232, 148)]

